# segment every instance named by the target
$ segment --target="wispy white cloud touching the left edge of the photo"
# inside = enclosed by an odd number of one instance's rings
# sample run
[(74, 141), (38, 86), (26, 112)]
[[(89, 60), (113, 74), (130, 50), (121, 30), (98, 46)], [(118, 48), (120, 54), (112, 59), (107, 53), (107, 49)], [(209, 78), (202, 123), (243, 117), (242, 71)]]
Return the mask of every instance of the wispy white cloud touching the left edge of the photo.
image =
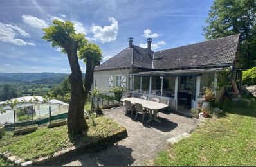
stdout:
[(29, 37), (30, 35), (26, 31), (22, 30), (16, 25), (5, 24), (0, 22), (0, 40), (2, 42), (8, 42), (19, 46), (35, 46), (34, 42), (26, 42), (22, 39), (18, 39), (17, 35)]

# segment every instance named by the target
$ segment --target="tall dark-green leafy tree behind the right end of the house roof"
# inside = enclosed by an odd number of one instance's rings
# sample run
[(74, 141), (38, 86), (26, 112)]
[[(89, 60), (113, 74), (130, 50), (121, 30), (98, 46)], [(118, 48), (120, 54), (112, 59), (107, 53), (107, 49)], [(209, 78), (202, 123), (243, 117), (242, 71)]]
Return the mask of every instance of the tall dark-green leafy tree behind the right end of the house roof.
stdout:
[(253, 66), (256, 59), (255, 0), (215, 0), (206, 19), (206, 39), (241, 34), (244, 67)]

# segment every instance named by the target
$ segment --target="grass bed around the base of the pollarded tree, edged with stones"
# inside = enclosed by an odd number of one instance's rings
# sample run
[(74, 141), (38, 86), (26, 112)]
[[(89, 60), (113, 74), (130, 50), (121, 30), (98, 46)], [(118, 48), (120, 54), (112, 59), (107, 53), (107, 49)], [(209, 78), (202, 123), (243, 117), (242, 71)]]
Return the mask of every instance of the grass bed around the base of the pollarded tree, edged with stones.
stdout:
[[(87, 120), (89, 131), (87, 135), (75, 139), (68, 136), (66, 125), (55, 128), (39, 128), (37, 131), (24, 136), (12, 137), (11, 132), (6, 132), (0, 140), (0, 152), (8, 150), (25, 161), (53, 155), (55, 152), (74, 146), (77, 141), (83, 143), (95, 141), (95, 139), (112, 136), (123, 130), (121, 125), (104, 116), (95, 118), (95, 125), (91, 119)], [(1, 160), (0, 160), (1, 161)]]

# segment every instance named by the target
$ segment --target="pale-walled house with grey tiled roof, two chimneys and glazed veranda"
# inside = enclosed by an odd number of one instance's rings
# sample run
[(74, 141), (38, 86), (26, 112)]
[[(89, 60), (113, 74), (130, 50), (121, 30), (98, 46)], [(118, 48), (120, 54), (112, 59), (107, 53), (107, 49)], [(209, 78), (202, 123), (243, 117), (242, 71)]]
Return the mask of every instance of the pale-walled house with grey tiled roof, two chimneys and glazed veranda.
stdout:
[[(206, 40), (163, 51), (151, 50), (133, 44), (95, 67), (93, 87), (109, 91), (112, 87), (127, 87), (140, 94), (165, 96), (172, 99), (173, 109), (189, 103), (195, 107), (199, 92), (217, 83), (218, 74), (226, 67), (232, 69), (230, 80), (241, 78), (239, 35)], [(216, 100), (223, 95), (216, 91)]]

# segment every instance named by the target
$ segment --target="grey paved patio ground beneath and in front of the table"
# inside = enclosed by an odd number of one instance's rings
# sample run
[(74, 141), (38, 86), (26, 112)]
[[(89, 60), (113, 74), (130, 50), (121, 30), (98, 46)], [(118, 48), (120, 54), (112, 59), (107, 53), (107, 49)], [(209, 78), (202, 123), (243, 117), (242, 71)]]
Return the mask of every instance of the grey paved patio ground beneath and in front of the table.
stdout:
[[(197, 123), (193, 119), (171, 112), (160, 112), (160, 121), (141, 123), (142, 116), (137, 121), (131, 115), (125, 116), (122, 107), (110, 109), (104, 115), (127, 128), (128, 137), (91, 154), (81, 154), (69, 157), (59, 165), (142, 165), (149, 159), (154, 159), (160, 150), (167, 148), (167, 140), (182, 136), (193, 130)], [(145, 122), (147, 121), (145, 117)]]

